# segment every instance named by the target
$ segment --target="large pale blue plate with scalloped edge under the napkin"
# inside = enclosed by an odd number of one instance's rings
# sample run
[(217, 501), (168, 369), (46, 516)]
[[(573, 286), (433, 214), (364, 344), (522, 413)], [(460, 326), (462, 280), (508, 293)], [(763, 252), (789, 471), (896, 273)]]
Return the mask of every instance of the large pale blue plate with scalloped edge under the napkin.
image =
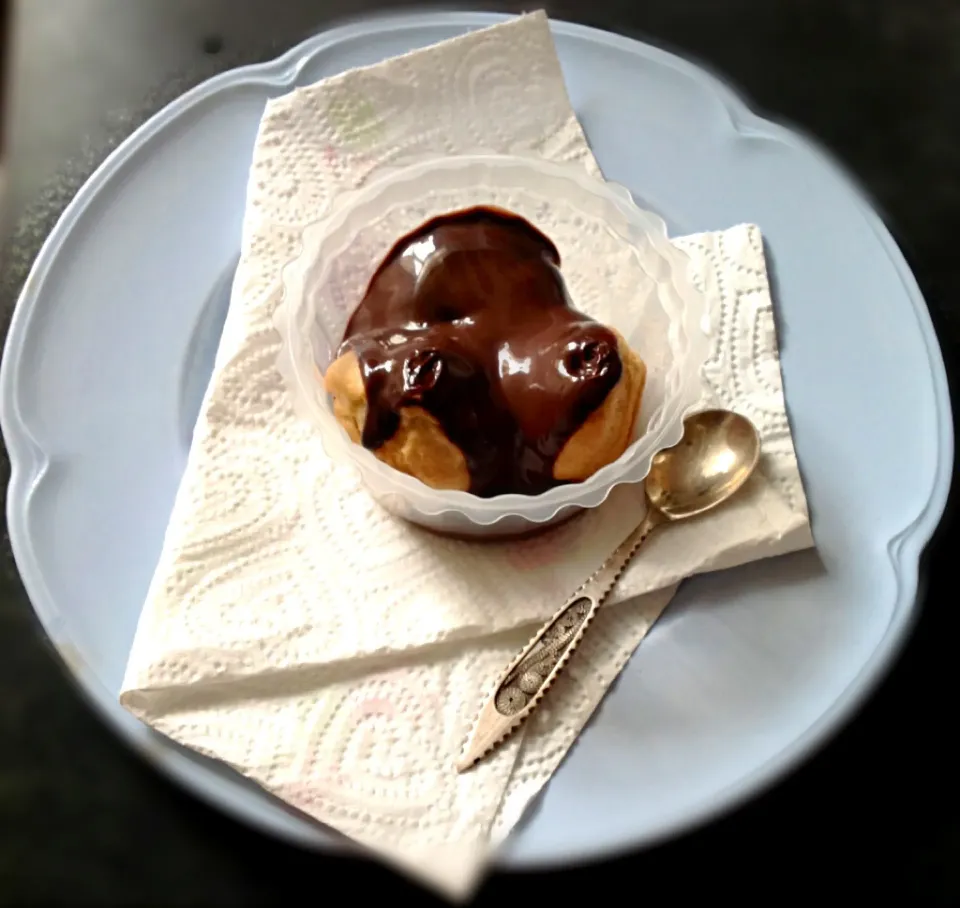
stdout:
[[(210, 373), (264, 101), (501, 17), (327, 32), (219, 76), (130, 137), (27, 280), (0, 374), (10, 537), (31, 601), (104, 718), (185, 787), (266, 831), (332, 840), (116, 703)], [(815, 148), (677, 57), (554, 23), (608, 178), (674, 235), (759, 224), (813, 552), (684, 585), (512, 839), (512, 866), (650, 842), (808, 756), (873, 688), (916, 612), (952, 465), (923, 300), (863, 197)], [(902, 465), (909, 463), (910, 470)]]

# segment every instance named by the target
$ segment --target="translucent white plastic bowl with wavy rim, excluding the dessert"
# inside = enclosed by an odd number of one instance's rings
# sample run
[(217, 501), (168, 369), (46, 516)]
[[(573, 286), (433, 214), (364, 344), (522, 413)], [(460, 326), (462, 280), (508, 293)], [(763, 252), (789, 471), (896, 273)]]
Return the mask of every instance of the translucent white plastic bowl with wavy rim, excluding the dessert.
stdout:
[[(432, 217), (475, 205), (514, 212), (550, 237), (573, 304), (619, 330), (647, 365), (634, 442), (584, 482), (494, 498), (432, 489), (354, 444), (318, 379), (397, 239)], [(680, 440), (683, 418), (700, 399), (708, 344), (706, 301), (688, 271), (660, 218), (579, 165), (507, 155), (418, 161), (342, 194), (305, 229), (299, 255), (283, 272), (274, 317), (282, 337), (277, 366), (326, 454), (357, 469), (392, 513), (442, 533), (530, 532), (598, 506), (621, 483), (642, 481), (654, 454)]]

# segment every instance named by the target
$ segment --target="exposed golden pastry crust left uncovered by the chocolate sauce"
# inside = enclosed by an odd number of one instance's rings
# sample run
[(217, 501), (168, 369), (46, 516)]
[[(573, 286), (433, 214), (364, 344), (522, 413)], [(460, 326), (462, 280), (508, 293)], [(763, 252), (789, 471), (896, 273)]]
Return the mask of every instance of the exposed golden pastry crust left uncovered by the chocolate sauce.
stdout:
[[(588, 479), (615, 461), (629, 446), (646, 383), (643, 360), (617, 334), (623, 363), (619, 381), (604, 402), (567, 440), (553, 465), (563, 482)], [(333, 412), (351, 441), (360, 444), (367, 416), (367, 399), (357, 356), (348, 350), (324, 376)], [(391, 438), (374, 450), (384, 463), (414, 476), (434, 489), (468, 491), (470, 472), (463, 452), (447, 438), (440, 422), (421, 407), (403, 407)]]

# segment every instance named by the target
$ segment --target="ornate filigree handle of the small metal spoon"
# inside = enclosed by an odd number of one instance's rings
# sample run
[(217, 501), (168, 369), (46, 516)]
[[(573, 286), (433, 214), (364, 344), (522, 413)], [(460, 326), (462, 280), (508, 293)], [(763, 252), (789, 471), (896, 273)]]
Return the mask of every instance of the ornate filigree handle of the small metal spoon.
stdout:
[(665, 520), (648, 507), (647, 515), (613, 554), (534, 634), (510, 662), (484, 703), (467, 739), (457, 769), (475, 766), (505, 741), (537, 708), (544, 694), (580, 645), (597, 610), (650, 531)]

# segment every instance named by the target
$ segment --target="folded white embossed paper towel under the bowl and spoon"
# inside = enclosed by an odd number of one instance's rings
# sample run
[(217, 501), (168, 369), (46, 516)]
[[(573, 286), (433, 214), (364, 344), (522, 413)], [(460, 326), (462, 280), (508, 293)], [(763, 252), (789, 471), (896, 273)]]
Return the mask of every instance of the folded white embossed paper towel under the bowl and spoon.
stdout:
[(635, 524), (642, 491), (498, 545), (390, 518), (293, 415), (272, 315), (302, 229), (337, 193), (407, 158), (478, 150), (599, 175), (543, 14), (267, 105), (230, 311), (121, 693), (451, 898), (472, 891), (679, 580), (812, 544), (759, 231), (677, 240), (711, 306), (704, 403), (757, 423), (760, 474), (723, 511), (655, 536), (540, 712), (456, 773), (482, 695)]

